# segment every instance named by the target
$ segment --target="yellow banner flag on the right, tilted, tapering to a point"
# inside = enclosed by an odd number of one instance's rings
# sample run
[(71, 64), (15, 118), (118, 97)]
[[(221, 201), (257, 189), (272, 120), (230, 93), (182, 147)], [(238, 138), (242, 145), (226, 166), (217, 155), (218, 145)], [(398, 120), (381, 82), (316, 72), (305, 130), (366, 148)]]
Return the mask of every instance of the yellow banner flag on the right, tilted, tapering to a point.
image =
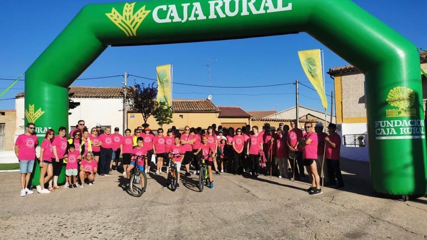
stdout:
[(305, 75), (307, 75), (307, 78), (319, 94), (320, 100), (322, 100), (322, 106), (328, 109), (328, 100), (326, 99), (325, 88), (323, 86), (320, 49), (298, 51), (298, 56)]

